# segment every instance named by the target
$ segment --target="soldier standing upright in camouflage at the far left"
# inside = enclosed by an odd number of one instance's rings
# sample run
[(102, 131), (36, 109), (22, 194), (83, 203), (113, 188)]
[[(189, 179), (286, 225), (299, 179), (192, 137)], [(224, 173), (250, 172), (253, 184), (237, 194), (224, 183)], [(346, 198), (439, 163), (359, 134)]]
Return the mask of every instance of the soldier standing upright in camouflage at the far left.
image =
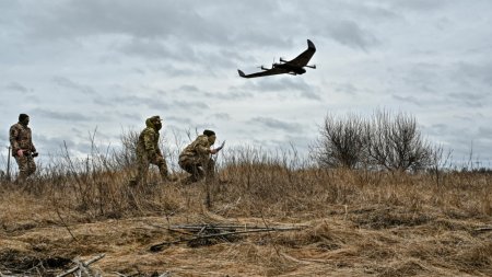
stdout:
[(19, 115), (19, 123), (10, 127), (10, 146), (12, 147), (12, 157), (19, 165), (17, 181), (25, 181), (27, 176), (36, 171), (36, 163), (34, 157), (37, 157), (36, 148), (33, 145), (30, 116), (26, 114)]

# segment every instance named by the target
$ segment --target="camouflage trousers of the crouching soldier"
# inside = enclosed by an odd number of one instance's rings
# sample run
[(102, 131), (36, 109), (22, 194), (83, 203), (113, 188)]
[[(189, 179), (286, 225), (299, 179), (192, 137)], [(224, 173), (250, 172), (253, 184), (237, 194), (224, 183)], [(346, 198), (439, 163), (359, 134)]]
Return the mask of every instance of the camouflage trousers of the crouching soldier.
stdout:
[(199, 157), (179, 157), (179, 168), (191, 174), (186, 183), (195, 183), (204, 177), (212, 180), (215, 174), (215, 161), (210, 158), (203, 159)]

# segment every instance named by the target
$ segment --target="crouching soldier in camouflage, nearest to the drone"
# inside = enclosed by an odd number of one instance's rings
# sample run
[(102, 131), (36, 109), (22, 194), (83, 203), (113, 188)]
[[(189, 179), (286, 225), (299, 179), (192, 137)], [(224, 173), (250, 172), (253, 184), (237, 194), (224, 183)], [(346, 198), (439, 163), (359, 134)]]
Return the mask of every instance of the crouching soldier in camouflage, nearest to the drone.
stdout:
[(187, 146), (179, 154), (179, 166), (191, 175), (185, 180), (186, 184), (195, 183), (203, 177), (212, 178), (215, 170), (215, 162), (210, 158), (211, 154), (219, 152), (216, 149), (210, 149), (215, 143), (215, 132), (204, 130), (203, 135)]

